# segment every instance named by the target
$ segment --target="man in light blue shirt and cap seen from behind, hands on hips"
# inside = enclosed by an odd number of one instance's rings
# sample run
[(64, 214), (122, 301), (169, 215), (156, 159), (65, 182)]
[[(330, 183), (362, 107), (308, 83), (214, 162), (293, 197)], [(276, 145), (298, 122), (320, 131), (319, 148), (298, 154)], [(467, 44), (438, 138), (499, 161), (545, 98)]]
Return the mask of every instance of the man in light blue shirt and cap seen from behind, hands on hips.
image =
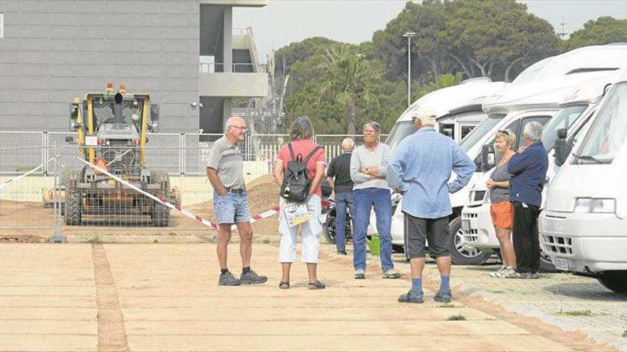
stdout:
[[(413, 118), (416, 132), (398, 144), (388, 163), (389, 186), (404, 193), (405, 257), (410, 260), (412, 272), (412, 288), (398, 297), (398, 302), (424, 302), (425, 240), (442, 279), (433, 299), (451, 300), (449, 193), (459, 191), (470, 181), (475, 164), (455, 141), (435, 131), (435, 117), (429, 108), (418, 110)], [(452, 172), (457, 178), (449, 183)]]

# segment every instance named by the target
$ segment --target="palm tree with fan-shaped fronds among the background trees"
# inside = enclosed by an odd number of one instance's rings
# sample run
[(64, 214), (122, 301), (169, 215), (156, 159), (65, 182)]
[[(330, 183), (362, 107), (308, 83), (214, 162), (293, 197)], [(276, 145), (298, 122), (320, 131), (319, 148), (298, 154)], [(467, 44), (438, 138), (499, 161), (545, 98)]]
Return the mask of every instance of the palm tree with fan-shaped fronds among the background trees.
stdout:
[(346, 109), (347, 134), (355, 134), (358, 107), (378, 105), (371, 87), (375, 87), (379, 73), (365, 56), (346, 50), (326, 50), (326, 60), (321, 67), (320, 98), (331, 98)]

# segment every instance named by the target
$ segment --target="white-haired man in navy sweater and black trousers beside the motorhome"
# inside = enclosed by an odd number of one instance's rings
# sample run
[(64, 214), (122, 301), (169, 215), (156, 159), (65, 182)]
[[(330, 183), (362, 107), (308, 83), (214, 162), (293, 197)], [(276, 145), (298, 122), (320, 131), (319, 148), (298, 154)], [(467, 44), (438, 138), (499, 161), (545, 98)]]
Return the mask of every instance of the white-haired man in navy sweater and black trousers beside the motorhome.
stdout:
[(514, 203), (512, 238), (516, 252), (516, 276), (520, 279), (537, 279), (540, 266), (538, 215), (542, 203), (542, 188), (549, 169), (549, 157), (541, 142), (542, 125), (529, 122), (522, 137), (525, 146), (509, 159), (509, 201)]

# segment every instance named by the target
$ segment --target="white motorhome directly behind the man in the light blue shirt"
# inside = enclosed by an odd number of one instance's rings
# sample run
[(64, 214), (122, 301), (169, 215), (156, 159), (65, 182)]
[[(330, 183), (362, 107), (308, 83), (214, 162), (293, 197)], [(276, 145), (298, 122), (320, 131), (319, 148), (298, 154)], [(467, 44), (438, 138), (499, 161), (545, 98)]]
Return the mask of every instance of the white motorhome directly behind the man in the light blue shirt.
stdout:
[[(568, 53), (556, 55), (551, 58), (545, 58), (544, 60), (529, 66), (529, 68), (520, 73), (512, 85), (509, 85), (506, 90), (503, 90), (503, 92), (509, 91), (509, 93), (507, 93), (509, 95), (518, 94), (517, 97), (512, 97), (512, 99), (522, 100), (522, 104), (524, 105), (525, 95), (523, 94), (527, 94), (528, 97), (531, 97), (534, 93), (534, 91), (527, 91), (526, 93), (524, 91), (527, 89), (526, 87), (530, 87), (530, 85), (534, 82), (543, 81), (550, 85), (550, 82), (559, 82), (561, 78), (565, 78), (567, 81), (571, 82), (570, 86), (566, 86), (564, 88), (569, 90), (571, 87), (578, 85), (579, 82), (605, 75), (608, 71), (621, 68), (626, 60), (627, 44), (616, 43), (608, 44), (606, 46), (587, 46), (584, 48), (578, 48), (571, 50)], [(556, 85), (556, 83), (552, 84)], [(545, 87), (543, 85), (538, 85), (534, 89), (537, 92), (538, 90), (543, 90), (545, 88), (550, 90), (550, 87)], [(550, 117), (557, 111), (556, 104), (561, 101), (563, 97), (564, 96), (551, 101), (551, 114), (545, 115), (545, 117)], [(506, 105), (508, 99), (509, 98), (504, 97), (503, 95), (492, 95), (489, 99), (491, 102), (487, 102), (487, 105), (493, 105), (494, 107), (498, 107), (499, 103)], [(418, 108), (418, 106), (416, 106), (416, 108)], [(487, 119), (483, 119), (477, 127), (472, 129), (472, 131), (469, 132), (464, 139), (462, 139), (460, 146), (466, 151), (471, 159), (475, 160), (475, 163), (478, 164), (478, 166), (480, 166), (479, 159), (482, 146), (489, 142), (489, 139), (494, 136), (494, 133), (498, 129), (512, 127), (509, 126), (508, 121), (512, 116), (511, 114), (514, 114), (514, 112), (521, 112), (520, 108), (521, 107), (516, 105), (510, 105), (508, 108), (509, 110), (502, 110), (500, 113), (489, 115)], [(489, 111), (486, 112), (488, 114), (490, 113)], [(473, 110), (472, 113), (484, 114), (484, 112), (477, 112), (476, 110)], [(509, 117), (505, 118), (505, 115), (509, 115)], [(524, 114), (519, 115), (518, 119), (516, 119), (513, 123), (519, 123), (519, 119), (523, 119), (525, 117), (527, 116)], [(546, 120), (544, 122), (546, 122)], [(396, 127), (398, 127), (398, 125), (395, 125), (394, 129), (396, 129)], [(413, 129), (410, 129), (411, 127), (410, 121), (405, 122), (404, 133), (390, 133), (387, 143), (391, 146), (395, 146), (401, 139), (413, 132)], [(452, 260), (457, 264), (477, 264), (483, 262), (487, 257), (489, 257), (489, 255), (491, 255), (489, 252), (482, 252), (474, 247), (467, 246), (464, 242), (462, 242), (462, 208), (469, 203), (470, 188), (477, 182), (477, 178), (480, 174), (482, 174), (482, 172), (480, 171), (480, 168), (478, 168), (477, 173), (472, 178), (469, 185), (451, 195), (453, 214), (451, 215), (450, 228), (451, 232), (455, 234), (452, 237), (451, 252)], [(373, 218), (371, 216), (371, 224), (373, 224), (372, 220)], [(403, 245), (403, 230), (403, 214), (400, 213), (400, 208), (398, 208), (393, 215), (392, 221), (392, 239), (394, 244)], [(369, 228), (368, 233), (374, 232), (375, 230), (373, 231), (372, 228)]]

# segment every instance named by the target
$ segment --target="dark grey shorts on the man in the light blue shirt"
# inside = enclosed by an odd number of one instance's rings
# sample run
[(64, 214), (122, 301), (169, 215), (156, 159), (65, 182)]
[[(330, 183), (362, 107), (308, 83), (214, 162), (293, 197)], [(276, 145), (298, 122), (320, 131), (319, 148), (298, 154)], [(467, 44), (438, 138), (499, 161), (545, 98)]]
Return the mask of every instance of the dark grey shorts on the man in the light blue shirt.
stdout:
[(425, 240), (433, 258), (450, 255), (448, 216), (436, 219), (415, 218), (405, 213), (405, 258), (425, 257)]

